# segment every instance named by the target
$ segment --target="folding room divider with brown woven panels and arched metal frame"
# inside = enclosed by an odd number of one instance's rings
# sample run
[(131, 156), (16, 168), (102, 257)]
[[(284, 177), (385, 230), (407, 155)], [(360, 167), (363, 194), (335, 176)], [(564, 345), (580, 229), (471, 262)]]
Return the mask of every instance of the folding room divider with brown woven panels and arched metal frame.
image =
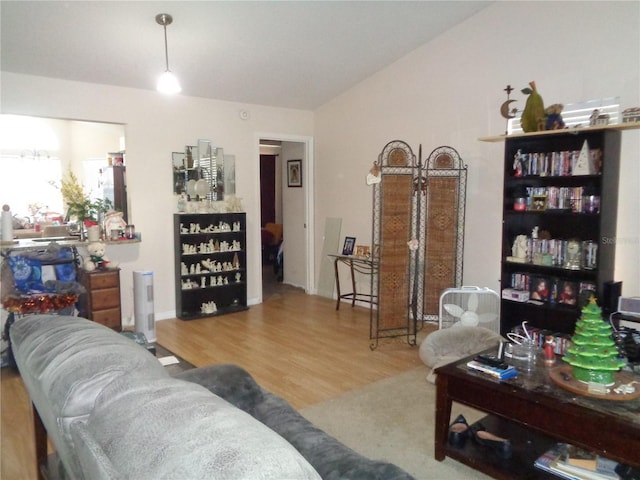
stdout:
[(467, 168), (450, 147), (421, 157), (394, 140), (374, 164), (372, 349), (400, 336), (415, 345), (417, 322), (437, 321), (442, 290), (461, 286)]

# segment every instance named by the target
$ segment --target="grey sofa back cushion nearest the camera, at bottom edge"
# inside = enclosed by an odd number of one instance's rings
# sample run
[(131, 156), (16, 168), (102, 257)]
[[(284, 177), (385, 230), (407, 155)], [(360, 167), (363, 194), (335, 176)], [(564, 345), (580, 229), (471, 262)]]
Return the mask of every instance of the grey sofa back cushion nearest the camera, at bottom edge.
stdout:
[(108, 472), (108, 465), (135, 479), (320, 478), (295, 448), (249, 414), (175, 378), (146, 379), (143, 372), (119, 378), (73, 429), (101, 451), (95, 458), (103, 462), (90, 466), (94, 475)]

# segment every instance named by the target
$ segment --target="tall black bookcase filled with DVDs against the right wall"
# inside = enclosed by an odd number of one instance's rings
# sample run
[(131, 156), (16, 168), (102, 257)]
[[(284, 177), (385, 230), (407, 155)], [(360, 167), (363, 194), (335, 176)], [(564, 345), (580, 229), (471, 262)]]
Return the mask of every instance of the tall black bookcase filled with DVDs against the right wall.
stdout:
[[(502, 266), (501, 289), (522, 289), (514, 284), (514, 276), (521, 274), (527, 280), (527, 289), (537, 279), (546, 279), (550, 284), (550, 298), (542, 304), (517, 302), (509, 299), (501, 301), (501, 333), (504, 335), (523, 321), (540, 329), (553, 332), (573, 333), (576, 320), (580, 316), (584, 297), (589, 291), (584, 290), (580, 297), (581, 286), (592, 284), (596, 298), (602, 298), (605, 282), (614, 280), (616, 216), (618, 210), (618, 179), (620, 170), (621, 132), (616, 129), (585, 129), (554, 131), (553, 134), (540, 132), (506, 137), (504, 148), (504, 188), (503, 188), (503, 222), (502, 222)], [(600, 152), (600, 166), (589, 174), (574, 174), (573, 167), (585, 141), (591, 151)], [(567, 153), (568, 152), (568, 153)], [(552, 155), (563, 154), (572, 165), (569, 171), (562, 173), (548, 169), (541, 173), (530, 169), (518, 176), (514, 159), (519, 154), (544, 155), (549, 159)], [(598, 161), (595, 162), (598, 165)], [(565, 205), (564, 208), (547, 208), (542, 210), (517, 211), (514, 201), (517, 197), (527, 196), (527, 189), (561, 189), (577, 190), (582, 187), (584, 195), (599, 197), (600, 206), (596, 213), (588, 212), (581, 207), (582, 197), (575, 198), (576, 205)], [(557, 191), (557, 190), (556, 190)], [(573, 200), (572, 200), (573, 201)], [(509, 261), (512, 246), (518, 235), (532, 237), (532, 231), (538, 227), (539, 234), (549, 234), (556, 244), (557, 251), (566, 248), (566, 242), (592, 241), (597, 247), (597, 264), (595, 268), (568, 269), (562, 264), (543, 265), (531, 258), (525, 263)], [(543, 233), (544, 232), (544, 233)], [(558, 242), (565, 242), (559, 247)], [(562, 256), (564, 256), (564, 251)], [(559, 294), (565, 282), (571, 282), (576, 290), (574, 305), (561, 304)]]

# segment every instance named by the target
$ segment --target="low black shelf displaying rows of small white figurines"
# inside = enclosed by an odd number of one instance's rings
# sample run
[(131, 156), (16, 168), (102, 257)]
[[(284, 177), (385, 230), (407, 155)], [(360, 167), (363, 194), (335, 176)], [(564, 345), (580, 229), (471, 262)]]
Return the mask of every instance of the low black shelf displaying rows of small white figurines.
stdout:
[(246, 214), (175, 214), (174, 237), (176, 316), (246, 310)]

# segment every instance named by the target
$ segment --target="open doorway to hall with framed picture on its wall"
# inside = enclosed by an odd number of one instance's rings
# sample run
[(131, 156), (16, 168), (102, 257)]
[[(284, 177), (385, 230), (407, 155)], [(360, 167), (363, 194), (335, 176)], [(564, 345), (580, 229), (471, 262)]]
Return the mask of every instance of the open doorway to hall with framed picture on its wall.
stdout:
[[(282, 243), (274, 250), (264, 250), (262, 259), (262, 301), (274, 292), (273, 281), (280, 286), (302, 288), (306, 293), (313, 285), (313, 233), (312, 218), (313, 159), (312, 139), (277, 134), (258, 137), (260, 161), (261, 242), (264, 244), (266, 223), (279, 224)], [(288, 180), (287, 166), (300, 160), (302, 182), (293, 186)], [(301, 185), (300, 185), (301, 183)], [(277, 262), (275, 265), (273, 262)], [(267, 283), (268, 282), (268, 283)], [(281, 293), (275, 285), (276, 294)]]

